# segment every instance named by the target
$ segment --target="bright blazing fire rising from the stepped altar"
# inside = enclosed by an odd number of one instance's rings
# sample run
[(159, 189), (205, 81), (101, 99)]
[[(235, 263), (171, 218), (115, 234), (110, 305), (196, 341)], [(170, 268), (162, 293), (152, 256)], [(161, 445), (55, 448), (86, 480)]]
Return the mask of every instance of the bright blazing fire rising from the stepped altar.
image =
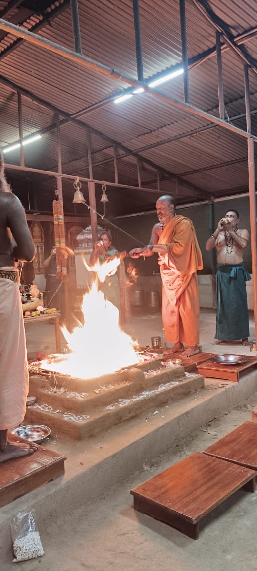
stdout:
[[(97, 274), (100, 271), (102, 281), (104, 274), (111, 275), (115, 271), (115, 263), (117, 270), (119, 258), (97, 264), (91, 270)], [(81, 309), (84, 324), (79, 324), (72, 333), (66, 327), (62, 329), (72, 352), (54, 363), (52, 359), (42, 361), (42, 368), (80, 379), (90, 379), (138, 363), (133, 349), (134, 341), (119, 327), (119, 310), (104, 298), (103, 292), (98, 291), (96, 282), (93, 282), (89, 293), (84, 295)]]

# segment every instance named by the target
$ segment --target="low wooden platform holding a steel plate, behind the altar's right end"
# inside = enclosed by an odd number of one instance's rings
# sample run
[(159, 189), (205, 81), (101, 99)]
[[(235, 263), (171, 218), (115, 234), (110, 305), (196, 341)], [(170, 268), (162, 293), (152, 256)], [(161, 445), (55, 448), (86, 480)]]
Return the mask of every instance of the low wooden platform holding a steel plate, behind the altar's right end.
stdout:
[[(224, 361), (218, 362), (217, 357), (226, 357), (226, 363)], [(234, 361), (235, 357), (239, 360), (238, 363), (228, 363), (230, 357), (233, 357), (232, 361)], [(215, 361), (214, 361), (215, 358)], [(242, 362), (243, 359), (243, 362)], [(253, 367), (257, 365), (257, 358), (256, 357), (248, 357), (245, 355), (217, 355), (216, 357), (211, 356), (209, 361), (205, 361), (205, 363), (201, 363), (197, 366), (199, 375), (203, 375), (203, 377), (214, 377), (214, 379), (225, 379), (227, 381), (232, 381), (234, 383), (239, 382), (239, 375), (245, 369), (249, 367)]]

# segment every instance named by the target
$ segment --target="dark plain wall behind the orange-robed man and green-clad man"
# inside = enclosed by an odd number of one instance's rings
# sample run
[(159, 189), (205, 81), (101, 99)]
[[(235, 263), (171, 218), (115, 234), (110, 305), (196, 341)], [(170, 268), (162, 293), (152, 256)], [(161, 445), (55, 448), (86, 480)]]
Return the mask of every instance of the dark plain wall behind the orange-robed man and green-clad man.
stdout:
[[(210, 227), (210, 209), (214, 209), (214, 227)], [(235, 209), (239, 212), (239, 228), (246, 228), (250, 232), (249, 218), (249, 199), (248, 196), (235, 198), (231, 200), (221, 200), (210, 204), (198, 204), (191, 207), (178, 207), (178, 214), (191, 218), (194, 223), (195, 232), (203, 257), (203, 274), (212, 274), (215, 272), (215, 254), (207, 252), (205, 244), (210, 237), (211, 232), (217, 228), (219, 219), (226, 214), (228, 210)], [(153, 225), (158, 222), (156, 212), (145, 212), (144, 214), (128, 216), (127, 218), (116, 218), (114, 220), (116, 226), (127, 232), (131, 237), (123, 234), (119, 230), (112, 232), (113, 242), (118, 250), (131, 250), (148, 244)], [(136, 242), (137, 239), (140, 243)], [(249, 272), (251, 272), (251, 247), (247, 246), (244, 252), (244, 264)], [(140, 275), (152, 275), (158, 272), (157, 255), (151, 258), (142, 258), (134, 260), (134, 265), (138, 268)]]

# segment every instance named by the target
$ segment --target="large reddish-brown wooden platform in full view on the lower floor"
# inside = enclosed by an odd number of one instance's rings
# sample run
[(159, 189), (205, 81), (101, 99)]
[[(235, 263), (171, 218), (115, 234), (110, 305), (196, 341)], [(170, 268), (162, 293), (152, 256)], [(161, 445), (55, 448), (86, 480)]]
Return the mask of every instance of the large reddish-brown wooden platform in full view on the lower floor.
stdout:
[(138, 512), (197, 539), (198, 522), (242, 487), (254, 492), (253, 470), (195, 452), (130, 493)]

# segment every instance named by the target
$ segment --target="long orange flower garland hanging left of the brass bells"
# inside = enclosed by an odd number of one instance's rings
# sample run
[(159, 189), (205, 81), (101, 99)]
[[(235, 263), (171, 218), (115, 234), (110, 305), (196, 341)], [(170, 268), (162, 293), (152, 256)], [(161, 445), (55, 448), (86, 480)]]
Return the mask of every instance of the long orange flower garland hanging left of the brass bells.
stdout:
[(65, 247), (65, 233), (64, 233), (64, 212), (63, 201), (59, 199), (56, 193), (56, 200), (52, 203), (52, 210), (54, 212), (54, 228), (55, 228), (55, 244), (56, 244), (56, 279), (68, 282), (69, 276), (67, 271), (67, 260), (62, 255), (62, 250)]

